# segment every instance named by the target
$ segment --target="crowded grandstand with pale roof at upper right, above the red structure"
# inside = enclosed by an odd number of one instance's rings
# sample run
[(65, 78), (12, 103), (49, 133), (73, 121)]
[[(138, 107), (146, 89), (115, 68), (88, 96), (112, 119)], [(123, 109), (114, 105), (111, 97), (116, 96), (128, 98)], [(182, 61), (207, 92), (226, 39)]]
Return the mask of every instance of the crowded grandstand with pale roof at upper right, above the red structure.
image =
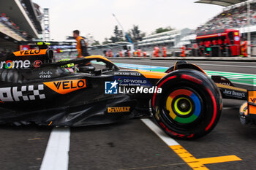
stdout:
[[(240, 2), (240, 3), (239, 3)], [(249, 18), (250, 22), (247, 22), (247, 3), (250, 4)], [(256, 45), (256, 1), (244, 1), (244, 0), (225, 0), (225, 1), (208, 1), (200, 0), (196, 3), (205, 4), (217, 4), (225, 7), (221, 13), (211, 18), (206, 23), (198, 26), (195, 30), (191, 31), (191, 34), (181, 38), (176, 47), (183, 45), (190, 45), (195, 42), (196, 34), (200, 31), (211, 31), (220, 28), (231, 28), (239, 30), (242, 40), (247, 39), (248, 32), (252, 35), (252, 46)], [(252, 55), (256, 55), (255, 47), (252, 49)]]

